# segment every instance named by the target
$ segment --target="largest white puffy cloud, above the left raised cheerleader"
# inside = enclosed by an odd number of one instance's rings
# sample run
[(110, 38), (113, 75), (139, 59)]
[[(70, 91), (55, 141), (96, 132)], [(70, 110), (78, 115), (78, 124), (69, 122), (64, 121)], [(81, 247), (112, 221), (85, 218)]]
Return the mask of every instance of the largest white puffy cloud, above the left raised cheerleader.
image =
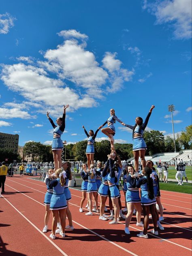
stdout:
[(132, 79), (134, 70), (122, 68), (117, 53), (106, 52), (100, 64), (94, 53), (86, 49), (88, 36), (76, 30), (63, 30), (59, 35), (68, 39), (56, 49), (42, 53), (43, 61), (20, 56), (19, 63), (2, 65), (4, 84), (22, 95), (33, 111), (35, 107), (37, 113), (49, 111), (56, 117), (61, 115), (63, 104), (70, 105), (68, 112), (96, 107), (98, 99), (117, 92), (125, 81)]

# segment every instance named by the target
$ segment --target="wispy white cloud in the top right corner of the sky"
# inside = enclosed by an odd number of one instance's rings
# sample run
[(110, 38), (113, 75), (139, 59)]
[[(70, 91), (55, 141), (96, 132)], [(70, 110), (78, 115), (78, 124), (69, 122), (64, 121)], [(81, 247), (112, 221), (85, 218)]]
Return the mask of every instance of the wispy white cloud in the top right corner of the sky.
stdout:
[(156, 24), (171, 24), (176, 39), (191, 38), (191, 0), (164, 0), (155, 3), (144, 0), (143, 9), (156, 16)]

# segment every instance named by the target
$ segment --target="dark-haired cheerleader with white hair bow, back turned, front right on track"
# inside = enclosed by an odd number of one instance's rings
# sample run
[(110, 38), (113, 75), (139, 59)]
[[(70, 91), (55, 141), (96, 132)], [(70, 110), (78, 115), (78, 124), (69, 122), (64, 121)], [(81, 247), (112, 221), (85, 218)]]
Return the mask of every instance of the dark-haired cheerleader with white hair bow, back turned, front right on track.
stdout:
[(141, 188), (141, 205), (143, 208), (144, 215), (144, 228), (143, 232), (137, 234), (137, 237), (148, 238), (147, 228), (149, 225), (149, 211), (152, 215), (152, 220), (154, 224), (154, 229), (151, 230), (151, 233), (158, 235), (157, 231), (157, 216), (155, 212), (156, 199), (154, 197), (154, 188), (153, 188), (153, 179), (150, 177), (152, 171), (149, 167), (145, 167), (142, 170), (142, 174), (138, 181), (136, 182), (137, 188)]

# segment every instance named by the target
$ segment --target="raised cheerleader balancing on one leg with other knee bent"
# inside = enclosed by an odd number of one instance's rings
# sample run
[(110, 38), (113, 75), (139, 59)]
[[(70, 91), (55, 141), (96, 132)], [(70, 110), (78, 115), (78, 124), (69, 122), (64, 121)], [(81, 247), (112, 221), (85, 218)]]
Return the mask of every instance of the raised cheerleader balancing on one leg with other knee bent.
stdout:
[(102, 128), (103, 126), (105, 126), (105, 124), (107, 124), (107, 128), (103, 128), (101, 131), (102, 131), (102, 133), (104, 133), (105, 135), (107, 135), (109, 137), (109, 140), (111, 142), (111, 149), (113, 149), (113, 150), (115, 150), (114, 139), (113, 139), (113, 136), (115, 135), (115, 126), (114, 126), (115, 121), (118, 121), (119, 123), (125, 125), (121, 120), (119, 120), (116, 117), (115, 110), (110, 109), (110, 117), (107, 119), (107, 121), (104, 124), (102, 124), (98, 128), (100, 130), (100, 128)]

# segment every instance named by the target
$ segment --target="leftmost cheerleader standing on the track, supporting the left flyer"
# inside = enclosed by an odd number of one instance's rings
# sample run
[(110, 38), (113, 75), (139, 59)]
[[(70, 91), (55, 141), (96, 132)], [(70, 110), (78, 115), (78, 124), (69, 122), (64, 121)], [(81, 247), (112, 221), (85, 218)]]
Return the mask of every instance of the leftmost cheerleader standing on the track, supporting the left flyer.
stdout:
[[(50, 178), (51, 175), (53, 174), (53, 169), (49, 169), (47, 171), (47, 175), (48, 177)], [(45, 179), (45, 182), (46, 182), (46, 179)], [(43, 233), (46, 233), (47, 232), (47, 228), (48, 228), (48, 222), (49, 222), (49, 216), (50, 216), (50, 209), (49, 209), (49, 206), (50, 206), (50, 201), (51, 201), (51, 196), (53, 194), (53, 189), (52, 188), (49, 188), (49, 186), (47, 186), (47, 192), (45, 194), (45, 199), (44, 199), (44, 205), (45, 205), (45, 226), (43, 228)]]

